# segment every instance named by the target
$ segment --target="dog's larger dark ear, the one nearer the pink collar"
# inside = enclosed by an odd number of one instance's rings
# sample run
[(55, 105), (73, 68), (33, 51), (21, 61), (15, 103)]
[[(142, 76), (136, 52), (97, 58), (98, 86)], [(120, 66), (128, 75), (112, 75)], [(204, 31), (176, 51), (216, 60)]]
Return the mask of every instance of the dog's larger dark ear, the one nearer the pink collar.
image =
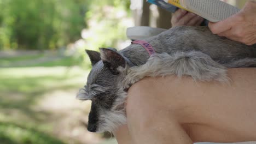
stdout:
[(125, 68), (125, 59), (117, 51), (100, 48), (101, 59), (105, 67), (107, 67), (113, 75), (118, 75), (118, 67)]

